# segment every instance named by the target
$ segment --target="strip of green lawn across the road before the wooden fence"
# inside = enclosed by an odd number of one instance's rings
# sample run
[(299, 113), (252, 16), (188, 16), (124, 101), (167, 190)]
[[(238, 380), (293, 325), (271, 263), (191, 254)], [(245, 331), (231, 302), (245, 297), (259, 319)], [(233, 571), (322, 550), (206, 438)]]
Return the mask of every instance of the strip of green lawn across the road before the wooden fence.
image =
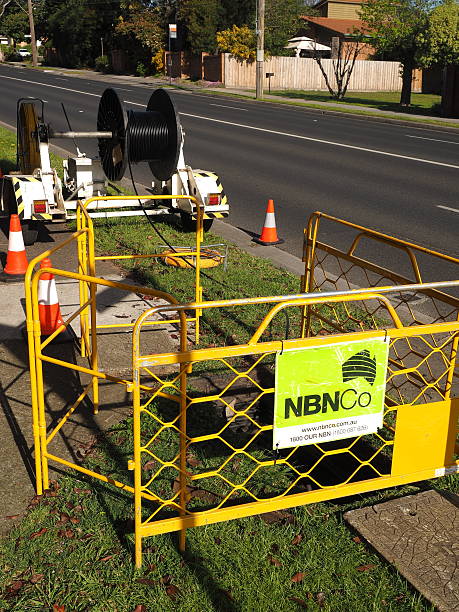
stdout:
[(374, 92), (374, 91), (352, 91), (346, 94), (344, 100), (335, 100), (328, 92), (324, 91), (304, 91), (286, 89), (273, 91), (276, 96), (287, 96), (310, 102), (337, 102), (339, 104), (356, 104), (358, 106), (368, 106), (379, 110), (402, 112), (415, 115), (440, 116), (441, 96), (435, 94), (411, 95), (411, 106), (400, 106), (399, 92)]

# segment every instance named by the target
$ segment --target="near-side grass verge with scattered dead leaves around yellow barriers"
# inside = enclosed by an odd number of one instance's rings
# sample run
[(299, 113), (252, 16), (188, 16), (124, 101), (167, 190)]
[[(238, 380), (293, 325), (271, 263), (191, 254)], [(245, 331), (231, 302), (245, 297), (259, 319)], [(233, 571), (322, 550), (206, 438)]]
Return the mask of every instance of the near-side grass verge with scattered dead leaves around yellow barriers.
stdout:
[[(14, 138), (0, 132), (0, 146), (11, 152), (11, 142)], [(2, 158), (12, 163), (3, 149)], [(110, 220), (96, 226), (102, 253), (152, 252), (160, 240), (145, 220)], [(157, 227), (175, 245), (193, 242), (193, 235), (174, 224)], [(221, 240), (209, 235), (206, 242)], [(145, 262), (123, 266), (179, 300), (193, 298), (192, 270)], [(228, 270), (220, 267), (209, 275), (213, 280), (204, 278), (207, 299), (298, 290), (297, 278), (233, 246)], [(239, 341), (259, 315), (252, 310), (242, 321), (206, 321), (203, 341), (223, 342), (228, 336)], [(132, 482), (126, 470), (132, 456), (131, 418), (85, 450), (90, 469)], [(168, 451), (165, 439), (156, 452)], [(455, 491), (458, 486), (452, 476), (434, 484)], [(433, 612), (342, 519), (350, 508), (425, 486), (429, 483), (299, 507), (270, 523), (266, 517), (251, 517), (190, 529), (183, 557), (175, 534), (157, 536), (146, 542), (143, 568), (135, 570), (131, 496), (110, 485), (63, 475), (45, 496), (31, 501), (25, 518), (0, 541), (0, 610)]]

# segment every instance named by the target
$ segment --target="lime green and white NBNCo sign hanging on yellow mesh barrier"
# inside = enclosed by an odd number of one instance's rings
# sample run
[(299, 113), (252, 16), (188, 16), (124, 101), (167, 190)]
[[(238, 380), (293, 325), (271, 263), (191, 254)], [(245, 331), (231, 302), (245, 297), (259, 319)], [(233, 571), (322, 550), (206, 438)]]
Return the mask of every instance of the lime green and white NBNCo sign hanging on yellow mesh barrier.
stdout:
[(375, 433), (382, 427), (388, 352), (378, 337), (278, 353), (273, 448)]

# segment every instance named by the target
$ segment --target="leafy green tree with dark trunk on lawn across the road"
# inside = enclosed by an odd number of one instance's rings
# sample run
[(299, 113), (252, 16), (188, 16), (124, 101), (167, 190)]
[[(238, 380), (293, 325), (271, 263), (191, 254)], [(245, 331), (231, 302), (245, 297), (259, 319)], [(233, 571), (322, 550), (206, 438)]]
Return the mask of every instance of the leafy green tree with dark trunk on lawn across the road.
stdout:
[(432, 0), (368, 0), (360, 17), (371, 44), (384, 59), (399, 61), (402, 71), (400, 104), (411, 103), (412, 74), (424, 65)]

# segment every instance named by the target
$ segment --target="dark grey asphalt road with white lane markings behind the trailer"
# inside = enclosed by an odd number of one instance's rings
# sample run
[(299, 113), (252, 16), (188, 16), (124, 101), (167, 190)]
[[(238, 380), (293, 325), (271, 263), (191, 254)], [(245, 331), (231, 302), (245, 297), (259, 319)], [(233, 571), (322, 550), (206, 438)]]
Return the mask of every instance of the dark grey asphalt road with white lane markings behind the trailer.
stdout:
[[(46, 121), (55, 129), (67, 129), (61, 102), (74, 130), (95, 129), (99, 96), (107, 85), (132, 109), (145, 107), (152, 90), (151, 85), (113, 85), (109, 77), (103, 83), (0, 66), (0, 118), (14, 125), (17, 98), (41, 97)], [(171, 95), (186, 132), (186, 161), (221, 177), (233, 225), (259, 234), (266, 201), (273, 198), (285, 239), (281, 248), (297, 256), (302, 229), (315, 210), (459, 255), (459, 132), (199, 92)], [(56, 144), (73, 149), (71, 142)], [(79, 145), (95, 152), (95, 143)], [(135, 167), (135, 178), (150, 183), (146, 164)], [(343, 245), (345, 236), (326, 228), (333, 244)], [(439, 280), (438, 268), (430, 270), (432, 280)]]

